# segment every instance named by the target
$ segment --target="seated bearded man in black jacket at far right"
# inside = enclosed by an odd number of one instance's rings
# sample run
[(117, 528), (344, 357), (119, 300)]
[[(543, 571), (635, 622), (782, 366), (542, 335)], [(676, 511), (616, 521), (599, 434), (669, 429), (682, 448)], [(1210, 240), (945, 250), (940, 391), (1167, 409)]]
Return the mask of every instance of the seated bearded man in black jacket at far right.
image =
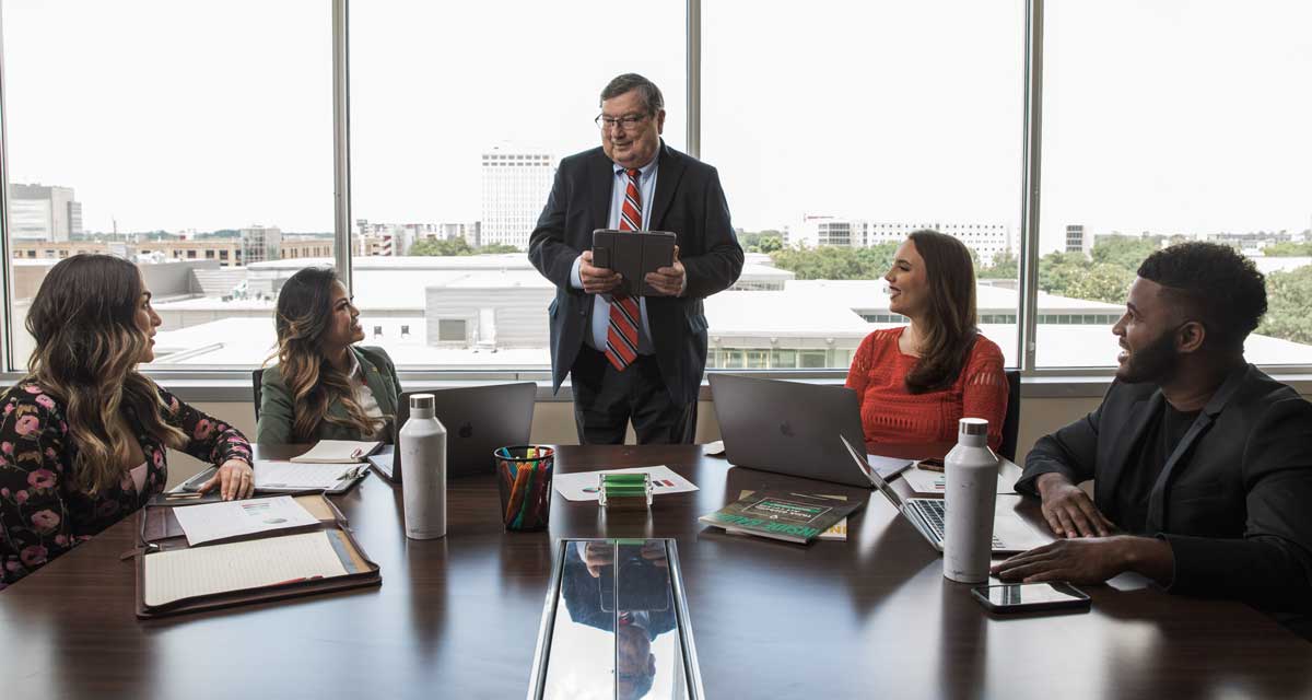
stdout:
[[(1225, 246), (1148, 256), (1111, 330), (1111, 389), (1039, 440), (1015, 485), (1065, 538), (993, 573), (1138, 571), (1170, 592), (1246, 600), (1312, 638), (1312, 405), (1244, 360), (1265, 313), (1262, 274)], [(1077, 487), (1088, 479), (1093, 500)]]

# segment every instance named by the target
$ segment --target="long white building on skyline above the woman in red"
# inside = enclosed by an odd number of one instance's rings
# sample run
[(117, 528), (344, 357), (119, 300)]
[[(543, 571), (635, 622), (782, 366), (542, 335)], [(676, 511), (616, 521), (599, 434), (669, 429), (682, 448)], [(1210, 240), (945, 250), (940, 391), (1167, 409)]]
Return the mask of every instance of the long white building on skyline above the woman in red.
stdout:
[(808, 215), (796, 226), (787, 229), (785, 243), (795, 246), (804, 243), (811, 247), (842, 246), (866, 248), (879, 243), (904, 240), (911, 232), (933, 229), (947, 234), (975, 251), (980, 264), (992, 265), (993, 259), (1012, 248), (1012, 227), (1005, 223), (960, 223), (960, 222), (880, 222), (844, 217)]

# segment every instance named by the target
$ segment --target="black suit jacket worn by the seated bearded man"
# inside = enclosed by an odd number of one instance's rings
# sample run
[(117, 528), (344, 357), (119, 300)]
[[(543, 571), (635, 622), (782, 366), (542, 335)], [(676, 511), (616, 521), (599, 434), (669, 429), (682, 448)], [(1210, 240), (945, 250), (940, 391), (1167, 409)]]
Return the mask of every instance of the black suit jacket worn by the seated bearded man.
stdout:
[[(1059, 471), (1094, 479), (1109, 507), (1164, 401), (1113, 382), (1098, 410), (1034, 445), (1017, 490)], [(1147, 527), (1174, 553), (1172, 592), (1249, 600), (1312, 633), (1312, 403), (1252, 365), (1232, 373), (1168, 457)]]

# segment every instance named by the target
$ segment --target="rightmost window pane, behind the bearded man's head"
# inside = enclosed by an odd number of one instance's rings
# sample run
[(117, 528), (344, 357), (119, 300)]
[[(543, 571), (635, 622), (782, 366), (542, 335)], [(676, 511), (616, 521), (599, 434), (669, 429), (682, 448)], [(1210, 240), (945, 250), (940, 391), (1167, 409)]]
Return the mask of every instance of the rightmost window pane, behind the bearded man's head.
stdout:
[[(1139, 263), (1178, 240), (1250, 256), (1270, 310), (1248, 360), (1307, 364), (1312, 7), (1046, 8), (1038, 365), (1114, 365), (1111, 326)], [(1054, 322), (1057, 306), (1069, 311)]]

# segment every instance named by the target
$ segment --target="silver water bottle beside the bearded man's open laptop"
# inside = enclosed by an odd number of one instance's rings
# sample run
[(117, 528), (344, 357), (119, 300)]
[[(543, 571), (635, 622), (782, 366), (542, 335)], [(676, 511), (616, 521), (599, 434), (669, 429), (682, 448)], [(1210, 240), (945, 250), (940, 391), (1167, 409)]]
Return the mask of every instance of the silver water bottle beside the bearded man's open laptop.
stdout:
[(997, 499), (997, 456), (988, 448), (988, 420), (960, 420), (956, 447), (943, 460), (943, 471), (947, 475), (943, 575), (960, 583), (985, 582)]

